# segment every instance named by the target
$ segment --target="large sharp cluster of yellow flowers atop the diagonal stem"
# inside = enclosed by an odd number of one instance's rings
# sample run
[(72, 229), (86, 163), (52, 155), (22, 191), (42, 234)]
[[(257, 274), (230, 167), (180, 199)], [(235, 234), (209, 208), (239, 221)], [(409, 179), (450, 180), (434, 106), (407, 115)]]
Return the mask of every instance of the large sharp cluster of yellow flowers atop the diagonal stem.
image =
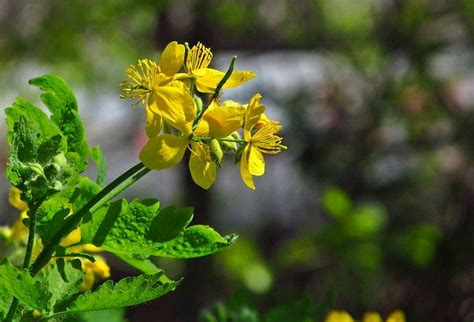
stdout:
[[(135, 99), (146, 114), (148, 142), (140, 160), (150, 169), (177, 165), (190, 149), (189, 169), (196, 184), (208, 189), (216, 180), (224, 152), (236, 154), (243, 182), (255, 189), (253, 176), (265, 172), (263, 153), (286, 149), (275, 135), (282, 126), (269, 120), (261, 95), (248, 104), (220, 102), (220, 89), (239, 86), (255, 77), (249, 71), (227, 73), (209, 68), (212, 52), (201, 43), (169, 43), (157, 62), (131, 65), (121, 84), (121, 98)], [(204, 103), (203, 103), (204, 101)], [(239, 130), (243, 131), (243, 138)]]

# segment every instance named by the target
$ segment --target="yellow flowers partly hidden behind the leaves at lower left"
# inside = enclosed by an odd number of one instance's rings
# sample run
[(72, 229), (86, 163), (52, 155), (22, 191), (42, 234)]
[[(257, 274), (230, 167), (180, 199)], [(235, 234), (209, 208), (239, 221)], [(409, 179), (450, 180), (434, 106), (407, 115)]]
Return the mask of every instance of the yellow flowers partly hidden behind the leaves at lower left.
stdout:
[[(16, 209), (21, 211), (20, 217), (15, 221), (15, 223), (10, 228), (10, 234), (8, 240), (10, 242), (25, 240), (28, 237), (28, 228), (22, 223), (23, 219), (27, 218), (28, 205), (26, 202), (21, 200), (21, 191), (17, 188), (10, 188), (8, 193), (8, 201)], [(76, 243), (81, 241), (81, 230), (77, 228), (72, 231), (64, 240), (61, 242), (61, 245), (68, 247), (69, 252), (71, 253), (97, 253), (101, 249), (92, 245), (84, 244), (79, 246), (73, 246)], [(72, 247), (69, 247), (72, 246)], [(33, 250), (33, 256), (37, 256), (41, 249), (41, 243), (36, 243), (36, 247)], [(70, 259), (70, 257), (68, 257)], [(110, 267), (107, 262), (100, 256), (94, 256), (95, 261), (91, 262), (88, 259), (79, 258), (82, 263), (82, 268), (84, 269), (84, 280), (81, 285), (81, 290), (85, 291), (91, 289), (94, 286), (95, 282), (99, 279), (106, 279), (110, 277)], [(53, 263), (54, 260), (51, 260)]]

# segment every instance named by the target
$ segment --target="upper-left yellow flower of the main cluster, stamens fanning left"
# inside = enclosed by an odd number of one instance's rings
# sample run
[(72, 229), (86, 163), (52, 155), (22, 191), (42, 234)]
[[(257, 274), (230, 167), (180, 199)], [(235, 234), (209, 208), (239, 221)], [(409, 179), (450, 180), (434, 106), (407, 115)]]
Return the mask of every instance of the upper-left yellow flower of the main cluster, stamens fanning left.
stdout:
[(194, 108), (191, 92), (183, 82), (176, 80), (184, 62), (184, 52), (184, 46), (173, 41), (163, 50), (158, 62), (142, 59), (138, 61), (138, 69), (131, 65), (127, 79), (120, 83), (121, 98), (137, 99), (135, 105), (141, 102), (145, 106), (148, 137), (160, 132), (162, 110)]

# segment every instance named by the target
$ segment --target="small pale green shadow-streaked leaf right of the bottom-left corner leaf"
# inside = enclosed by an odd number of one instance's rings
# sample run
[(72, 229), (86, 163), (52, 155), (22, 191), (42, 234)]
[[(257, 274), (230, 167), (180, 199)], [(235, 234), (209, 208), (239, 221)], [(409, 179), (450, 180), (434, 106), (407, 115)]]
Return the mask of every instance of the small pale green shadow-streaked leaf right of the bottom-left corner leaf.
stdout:
[(61, 307), (62, 303), (79, 292), (84, 272), (79, 259), (65, 261), (60, 258), (53, 265), (48, 265), (39, 278), (51, 293), (50, 307)]

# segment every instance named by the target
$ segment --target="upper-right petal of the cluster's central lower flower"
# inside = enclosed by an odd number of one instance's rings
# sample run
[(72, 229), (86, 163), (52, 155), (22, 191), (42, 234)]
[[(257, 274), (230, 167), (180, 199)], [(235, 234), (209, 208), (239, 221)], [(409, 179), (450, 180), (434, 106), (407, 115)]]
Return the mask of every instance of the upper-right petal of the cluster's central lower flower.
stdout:
[[(240, 107), (240, 108), (239, 108)], [(244, 109), (237, 106), (218, 106), (215, 101), (204, 112), (194, 134), (223, 138), (237, 131), (242, 125)]]

